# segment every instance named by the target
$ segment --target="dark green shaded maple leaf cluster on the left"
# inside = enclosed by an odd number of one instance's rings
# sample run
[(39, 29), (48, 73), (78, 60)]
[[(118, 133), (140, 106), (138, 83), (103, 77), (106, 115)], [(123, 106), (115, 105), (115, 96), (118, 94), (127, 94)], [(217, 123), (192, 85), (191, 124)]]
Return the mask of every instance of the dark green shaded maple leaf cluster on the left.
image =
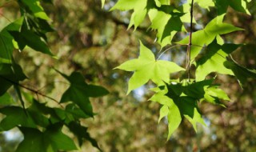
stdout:
[[(78, 72), (69, 76), (58, 70), (55, 71), (69, 85), (59, 101), (22, 84), (28, 78), (22, 66), (15, 62), (14, 51), (22, 54), (22, 50), (30, 48), (56, 58), (47, 44), (46, 34), (54, 28), (49, 24), (42, 2), (52, 4), (51, 0), (18, 0), (20, 18), (0, 31), (0, 113), (5, 116), (0, 122), (0, 131), (14, 127), (21, 130), (24, 139), (17, 148), (20, 152), (77, 150), (84, 141), (101, 150), (81, 120), (94, 118), (90, 98), (108, 94), (105, 88), (87, 84)], [(47, 98), (47, 102), (39, 101), (38, 96)], [(78, 146), (63, 130), (64, 126), (78, 139)]]

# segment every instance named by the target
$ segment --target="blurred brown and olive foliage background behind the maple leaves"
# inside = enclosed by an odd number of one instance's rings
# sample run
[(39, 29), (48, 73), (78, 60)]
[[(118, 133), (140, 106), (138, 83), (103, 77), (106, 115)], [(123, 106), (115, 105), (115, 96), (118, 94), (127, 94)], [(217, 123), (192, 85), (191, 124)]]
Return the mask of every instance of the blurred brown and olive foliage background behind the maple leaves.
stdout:
[[(92, 99), (94, 112), (98, 115), (86, 119), (84, 125), (89, 126), (91, 136), (106, 152), (256, 151), (256, 81), (249, 79), (242, 90), (234, 77), (224, 75), (218, 75), (216, 82), (231, 98), (231, 102), (224, 102), (226, 108), (202, 103), (200, 107), (206, 126), (198, 125), (195, 133), (184, 120), (166, 141), (166, 120), (158, 124), (160, 106), (148, 101), (153, 92), (147, 88), (153, 84), (126, 95), (131, 73), (113, 70), (122, 62), (138, 57), (139, 39), (159, 55), (160, 46), (154, 42), (155, 32), (148, 29), (150, 22), (147, 18), (137, 30), (127, 30), (131, 12), (110, 12), (114, 2), (116, 0), (107, 1), (103, 9), (100, 0), (54, 0), (54, 6), (44, 4), (55, 29), (54, 33), (48, 34), (49, 45), (58, 59), (29, 49), (21, 53), (15, 51), (15, 60), (30, 78), (23, 82), (24, 85), (60, 98), (66, 84), (54, 67), (66, 74), (78, 70), (86, 82), (105, 86), (110, 94)], [(178, 5), (179, 1), (173, 3)], [(226, 42), (247, 44), (232, 55), (238, 63), (251, 69), (256, 69), (255, 5), (251, 2), (249, 6), (251, 16), (229, 9), (225, 21), (245, 30), (222, 37)], [(17, 2), (0, 0), (0, 29), (19, 15)], [(194, 16), (200, 24), (196, 27), (200, 28), (216, 16), (216, 10), (212, 8), (209, 12), (195, 6)], [(175, 47), (162, 58), (184, 65), (186, 48)], [(39, 99), (49, 102), (46, 98)], [(0, 115), (0, 119), (2, 117)], [(16, 129), (3, 132), (0, 134), (0, 152), (13, 152), (22, 138)], [(78, 151), (98, 150), (85, 142)]]

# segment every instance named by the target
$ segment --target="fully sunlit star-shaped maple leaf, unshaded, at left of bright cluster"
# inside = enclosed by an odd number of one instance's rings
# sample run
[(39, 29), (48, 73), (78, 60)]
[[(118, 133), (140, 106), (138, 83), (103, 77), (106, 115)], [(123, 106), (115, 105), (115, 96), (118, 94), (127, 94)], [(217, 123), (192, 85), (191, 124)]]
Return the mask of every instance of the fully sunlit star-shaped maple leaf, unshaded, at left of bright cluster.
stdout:
[(115, 69), (134, 71), (134, 74), (129, 80), (127, 94), (129, 94), (131, 90), (144, 85), (149, 80), (152, 80), (158, 85), (162, 84), (162, 81), (169, 82), (171, 73), (184, 70), (174, 62), (155, 60), (152, 51), (146, 48), (142, 42), (140, 42), (139, 57), (124, 62)]

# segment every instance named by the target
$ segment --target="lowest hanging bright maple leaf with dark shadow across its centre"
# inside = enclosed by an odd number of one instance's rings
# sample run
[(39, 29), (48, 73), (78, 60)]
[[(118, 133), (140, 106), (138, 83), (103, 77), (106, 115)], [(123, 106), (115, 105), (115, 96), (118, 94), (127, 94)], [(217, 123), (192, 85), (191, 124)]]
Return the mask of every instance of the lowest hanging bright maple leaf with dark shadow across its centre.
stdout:
[(212, 85), (212, 82), (213, 80), (193, 83), (175, 82), (153, 89), (156, 93), (150, 100), (163, 105), (159, 121), (164, 117), (168, 118), (168, 138), (178, 128), (183, 117), (194, 126), (194, 130), (197, 130), (198, 122), (205, 125), (198, 110), (198, 102), (206, 101), (224, 106), (221, 101), (230, 100), (226, 93), (218, 86)]

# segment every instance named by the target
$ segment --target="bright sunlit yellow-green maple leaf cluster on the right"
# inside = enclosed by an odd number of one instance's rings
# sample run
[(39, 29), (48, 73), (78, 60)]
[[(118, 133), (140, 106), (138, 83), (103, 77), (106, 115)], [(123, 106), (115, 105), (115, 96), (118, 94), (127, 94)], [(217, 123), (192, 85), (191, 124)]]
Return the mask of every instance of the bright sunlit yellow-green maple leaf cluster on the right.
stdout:
[[(223, 38), (224, 34), (242, 30), (225, 22), (228, 8), (250, 15), (247, 9), (249, 2), (251, 1), (195, 0), (182, 2), (177, 6), (170, 1), (118, 0), (112, 7), (111, 10), (132, 10), (129, 28), (134, 26), (134, 30), (148, 17), (151, 22), (149, 29), (156, 30), (157, 42), (161, 48), (168, 45), (187, 46), (184, 68), (174, 62), (155, 60), (154, 54), (142, 42), (138, 59), (124, 62), (117, 67), (134, 72), (129, 80), (127, 94), (149, 81), (157, 86), (151, 89), (155, 94), (150, 100), (162, 104), (159, 120), (164, 117), (168, 120), (168, 139), (182, 122), (183, 116), (195, 130), (197, 122), (204, 124), (198, 108), (200, 102), (224, 106), (221, 101), (230, 100), (220, 86), (214, 84), (217, 75), (211, 78), (210, 74), (234, 75), (241, 86), (247, 78), (256, 78), (255, 70), (239, 65), (231, 56), (231, 53), (243, 44), (225, 42)], [(215, 9), (217, 14), (202, 30), (194, 32), (193, 26), (199, 25), (193, 16), (195, 4), (206, 11)], [(190, 26), (187, 26), (187, 23), (190, 23)], [(175, 35), (184, 32), (188, 33), (188, 36), (178, 42), (173, 41)], [(161, 53), (165, 54), (166, 50)], [(191, 66), (195, 66), (194, 74), (191, 74)], [(172, 80), (170, 75), (178, 71), (185, 71), (185, 74), (180, 72), (179, 79)], [(194, 78), (190, 78), (191, 76)]]

